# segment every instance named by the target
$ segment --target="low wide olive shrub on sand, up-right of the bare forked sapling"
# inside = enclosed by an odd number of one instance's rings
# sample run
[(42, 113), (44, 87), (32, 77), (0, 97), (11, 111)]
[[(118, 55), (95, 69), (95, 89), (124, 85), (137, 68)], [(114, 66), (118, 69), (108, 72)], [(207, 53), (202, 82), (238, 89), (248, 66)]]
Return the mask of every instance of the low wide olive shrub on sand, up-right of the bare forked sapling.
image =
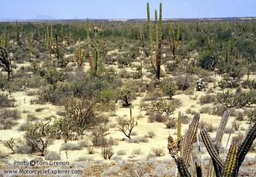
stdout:
[(173, 114), (177, 105), (172, 104), (170, 101), (166, 99), (160, 99), (155, 102), (152, 102), (150, 112), (158, 115), (165, 115), (167, 118)]

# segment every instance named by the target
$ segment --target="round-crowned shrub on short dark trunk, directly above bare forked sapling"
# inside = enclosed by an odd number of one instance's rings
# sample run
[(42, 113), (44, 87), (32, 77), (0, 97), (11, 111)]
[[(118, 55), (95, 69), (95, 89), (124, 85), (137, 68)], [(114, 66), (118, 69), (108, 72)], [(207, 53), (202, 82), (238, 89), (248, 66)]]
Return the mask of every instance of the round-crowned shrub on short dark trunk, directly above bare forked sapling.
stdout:
[(123, 106), (128, 107), (130, 102), (135, 99), (135, 92), (133, 92), (133, 88), (131, 85), (124, 86), (118, 95), (118, 98), (123, 100)]

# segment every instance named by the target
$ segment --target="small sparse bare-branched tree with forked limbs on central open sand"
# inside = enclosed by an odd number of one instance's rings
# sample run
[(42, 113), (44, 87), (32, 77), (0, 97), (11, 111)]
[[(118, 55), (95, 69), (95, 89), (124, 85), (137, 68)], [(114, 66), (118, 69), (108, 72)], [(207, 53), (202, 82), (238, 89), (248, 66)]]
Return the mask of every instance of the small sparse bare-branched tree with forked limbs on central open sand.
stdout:
[(137, 125), (138, 122), (136, 122), (135, 118), (130, 117), (130, 119), (123, 120), (119, 125), (116, 125), (116, 128), (119, 129), (120, 132), (123, 132), (123, 134), (126, 135), (128, 139), (131, 139), (130, 135), (133, 131), (133, 128)]

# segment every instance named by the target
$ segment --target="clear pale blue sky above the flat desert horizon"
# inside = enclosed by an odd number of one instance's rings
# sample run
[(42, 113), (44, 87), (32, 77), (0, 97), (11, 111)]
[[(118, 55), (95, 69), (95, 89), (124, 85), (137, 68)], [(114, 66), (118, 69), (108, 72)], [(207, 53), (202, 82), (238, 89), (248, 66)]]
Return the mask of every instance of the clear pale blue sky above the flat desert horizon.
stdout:
[(0, 0), (0, 19), (147, 18), (163, 2), (163, 18), (256, 16), (256, 0)]

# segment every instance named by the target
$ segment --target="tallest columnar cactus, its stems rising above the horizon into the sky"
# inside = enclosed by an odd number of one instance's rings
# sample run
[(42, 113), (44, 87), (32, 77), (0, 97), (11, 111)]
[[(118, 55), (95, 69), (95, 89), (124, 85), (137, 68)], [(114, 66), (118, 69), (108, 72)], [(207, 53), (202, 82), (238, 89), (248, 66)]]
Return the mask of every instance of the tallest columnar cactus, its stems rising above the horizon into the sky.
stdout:
[(157, 10), (155, 11), (155, 36), (156, 36), (156, 59), (154, 59), (153, 53), (153, 37), (152, 28), (150, 25), (150, 4), (147, 3), (147, 31), (150, 43), (150, 62), (153, 66), (153, 70), (156, 73), (156, 78), (160, 79), (160, 66), (161, 66), (161, 55), (162, 55), (162, 39), (163, 39), (163, 24), (162, 24), (162, 3), (160, 3), (159, 22), (157, 18)]

